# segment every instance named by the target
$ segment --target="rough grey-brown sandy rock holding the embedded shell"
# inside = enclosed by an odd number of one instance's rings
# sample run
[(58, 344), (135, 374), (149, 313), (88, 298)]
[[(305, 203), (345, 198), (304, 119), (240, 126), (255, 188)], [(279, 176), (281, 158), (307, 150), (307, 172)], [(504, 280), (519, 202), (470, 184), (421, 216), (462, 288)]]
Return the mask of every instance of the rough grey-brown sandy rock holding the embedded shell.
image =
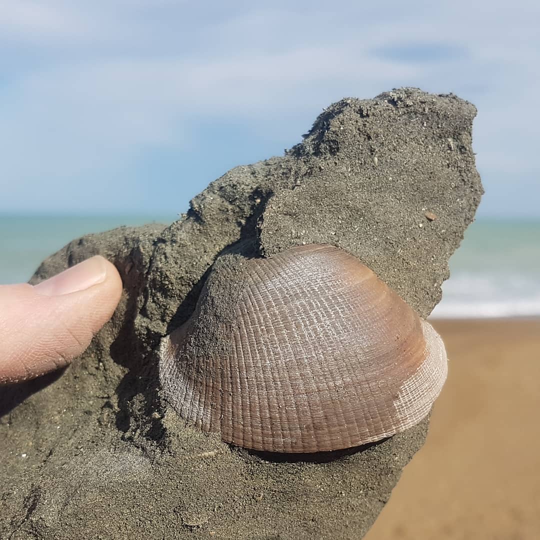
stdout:
[(427, 421), (362, 451), (249, 453), (183, 425), (155, 350), (222, 252), (332, 244), (427, 316), (482, 194), (475, 114), (416, 89), (343, 99), (284, 157), (229, 171), (171, 226), (89, 235), (46, 260), (33, 283), (99, 253), (125, 291), (71, 367), (0, 387), (0, 538), (361, 538)]

